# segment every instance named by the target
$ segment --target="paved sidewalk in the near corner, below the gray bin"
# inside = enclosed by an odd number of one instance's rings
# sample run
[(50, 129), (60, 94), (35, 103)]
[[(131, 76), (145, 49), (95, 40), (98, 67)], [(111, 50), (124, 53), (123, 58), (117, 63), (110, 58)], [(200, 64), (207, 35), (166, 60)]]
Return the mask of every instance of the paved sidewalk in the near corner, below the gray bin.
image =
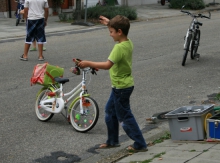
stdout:
[[(164, 133), (169, 131), (167, 122), (158, 128)], [(159, 132), (159, 131), (158, 131)], [(144, 134), (147, 138), (149, 133)], [(146, 139), (148, 140), (148, 139)], [(147, 152), (139, 152), (125, 157), (117, 163), (219, 163), (220, 144), (205, 141), (173, 141), (149, 146)]]

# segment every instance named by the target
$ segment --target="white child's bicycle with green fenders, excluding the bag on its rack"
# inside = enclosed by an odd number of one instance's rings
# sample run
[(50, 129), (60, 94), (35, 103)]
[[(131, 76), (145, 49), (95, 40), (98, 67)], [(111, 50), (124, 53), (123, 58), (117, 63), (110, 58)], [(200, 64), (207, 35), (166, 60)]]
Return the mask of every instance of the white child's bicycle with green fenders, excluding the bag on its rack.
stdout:
[[(80, 68), (77, 66), (80, 60), (73, 59), (73, 61), (76, 66), (72, 68), (72, 72), (80, 75)], [(96, 125), (99, 118), (99, 108), (86, 90), (86, 76), (89, 72), (96, 74), (98, 70), (87, 67), (81, 71), (82, 82), (68, 93), (63, 92), (63, 84), (69, 82), (69, 79), (60, 77), (55, 77), (54, 84), (50, 84), (38, 92), (35, 112), (40, 121), (46, 122), (54, 114), (61, 113), (78, 132), (87, 132)], [(67, 96), (68, 98), (64, 99)], [(72, 100), (71, 104), (67, 107), (70, 100)], [(63, 110), (65, 110), (64, 113)]]

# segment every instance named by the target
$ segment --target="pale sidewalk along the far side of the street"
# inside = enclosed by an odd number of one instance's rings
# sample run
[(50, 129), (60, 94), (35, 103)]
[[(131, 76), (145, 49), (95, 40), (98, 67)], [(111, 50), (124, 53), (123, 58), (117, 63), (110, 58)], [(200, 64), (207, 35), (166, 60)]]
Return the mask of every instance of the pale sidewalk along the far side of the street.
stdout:
[[(183, 13), (180, 10), (169, 9), (169, 3), (166, 3), (164, 6), (161, 4), (151, 4), (151, 5), (142, 5), (134, 6), (137, 9), (138, 19), (139, 20), (150, 20), (158, 19), (164, 17), (173, 17), (180, 16)], [(206, 10), (219, 10), (220, 5), (207, 7), (201, 12)], [(198, 11), (192, 11), (198, 12)], [(0, 40), (12, 39), (25, 36), (25, 23), (20, 23), (18, 26), (15, 26), (15, 17), (12, 18), (0, 18)], [(83, 21), (83, 20), (82, 20)], [(48, 25), (46, 26), (46, 34), (57, 33), (57, 32), (67, 32), (73, 30), (82, 30), (82, 29), (92, 29), (97, 28), (98, 26), (80, 26), (80, 25), (71, 25), (71, 23), (61, 23), (59, 22), (58, 16), (49, 16)]]

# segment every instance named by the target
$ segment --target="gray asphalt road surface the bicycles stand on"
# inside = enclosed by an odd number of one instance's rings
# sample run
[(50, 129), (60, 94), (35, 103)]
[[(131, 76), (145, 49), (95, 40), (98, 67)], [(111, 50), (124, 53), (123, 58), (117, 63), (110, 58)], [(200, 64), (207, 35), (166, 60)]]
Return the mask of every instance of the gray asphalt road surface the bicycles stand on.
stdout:
[[(201, 20), (200, 61), (188, 57), (186, 66), (182, 67), (183, 38), (190, 21), (184, 15), (131, 24), (129, 38), (134, 43), (135, 78), (131, 106), (138, 124), (145, 129), (143, 132), (152, 127), (145, 120), (152, 114), (184, 105), (200, 105), (207, 95), (219, 92), (219, 11), (212, 13), (211, 20)], [(64, 76), (70, 77), (65, 91), (81, 79), (69, 72), (74, 66), (72, 58), (106, 61), (115, 44), (107, 28), (54, 34), (47, 41), (46, 61), (65, 68)], [(93, 163), (106, 157), (105, 152), (94, 147), (106, 140), (104, 106), (110, 93), (108, 72), (100, 70), (88, 86), (100, 108), (99, 121), (91, 131), (74, 131), (60, 114), (43, 123), (34, 112), (36, 94), (41, 87), (30, 86), (33, 67), (39, 63), (38, 54), (30, 52), (28, 62), (20, 61), (23, 45), (24, 38), (0, 43), (0, 162)], [(120, 140), (128, 140), (122, 129)]]

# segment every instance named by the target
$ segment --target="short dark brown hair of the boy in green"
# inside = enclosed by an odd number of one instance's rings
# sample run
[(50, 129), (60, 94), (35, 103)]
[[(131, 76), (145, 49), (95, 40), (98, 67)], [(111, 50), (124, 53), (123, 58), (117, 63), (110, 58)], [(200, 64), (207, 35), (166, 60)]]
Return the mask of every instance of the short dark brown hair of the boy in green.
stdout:
[(108, 22), (107, 26), (114, 28), (116, 32), (121, 29), (123, 34), (127, 36), (130, 29), (130, 22), (125, 16), (117, 15)]

